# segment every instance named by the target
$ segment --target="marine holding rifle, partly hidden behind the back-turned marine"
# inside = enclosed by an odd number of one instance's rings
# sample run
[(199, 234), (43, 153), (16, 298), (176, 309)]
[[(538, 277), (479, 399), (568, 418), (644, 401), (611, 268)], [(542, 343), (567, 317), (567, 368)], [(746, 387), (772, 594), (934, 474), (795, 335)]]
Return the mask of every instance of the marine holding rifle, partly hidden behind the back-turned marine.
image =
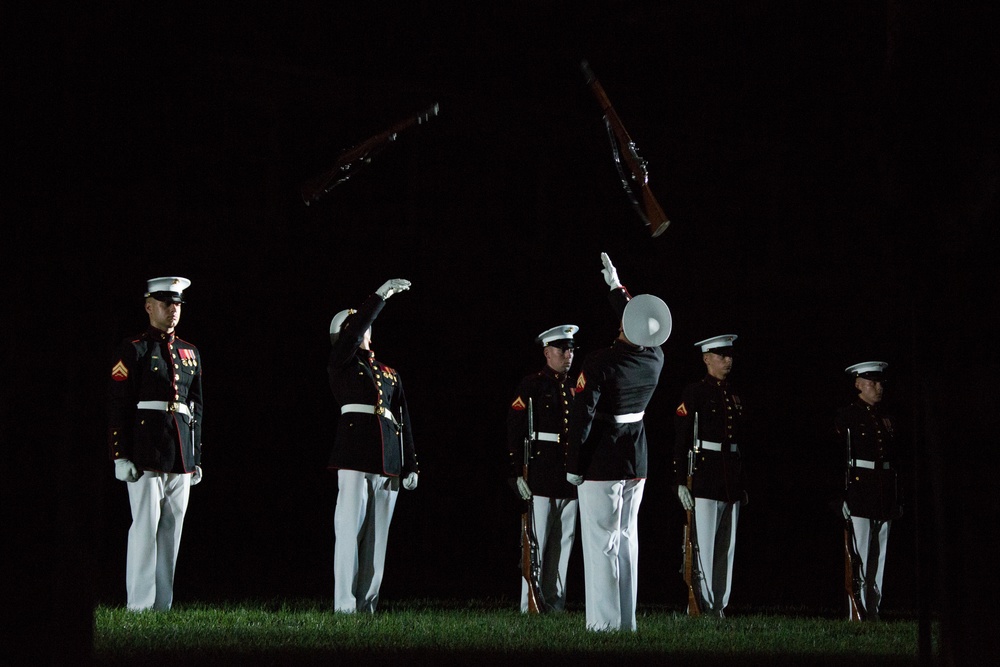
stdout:
[[(545, 366), (525, 376), (507, 410), (509, 479), (521, 498), (530, 501), (538, 541), (540, 588), (544, 608), (566, 608), (566, 574), (576, 541), (578, 501), (576, 487), (566, 480), (566, 447), (569, 414), (573, 405), (573, 364), (579, 331), (573, 324), (552, 327), (535, 339), (542, 345)], [(522, 476), (528, 406), (535, 433), (528, 463), (528, 479)], [(528, 582), (521, 577), (521, 611), (528, 611)]]

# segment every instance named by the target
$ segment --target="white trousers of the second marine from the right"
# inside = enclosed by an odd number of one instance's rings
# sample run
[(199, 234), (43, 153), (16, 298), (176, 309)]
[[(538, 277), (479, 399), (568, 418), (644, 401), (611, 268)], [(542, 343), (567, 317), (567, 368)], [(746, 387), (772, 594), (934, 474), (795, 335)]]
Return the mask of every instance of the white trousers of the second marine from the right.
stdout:
[(698, 570), (701, 572), (701, 599), (707, 609), (721, 612), (729, 604), (733, 588), (733, 560), (736, 556), (736, 524), (740, 504), (711, 498), (695, 498), (695, 537)]

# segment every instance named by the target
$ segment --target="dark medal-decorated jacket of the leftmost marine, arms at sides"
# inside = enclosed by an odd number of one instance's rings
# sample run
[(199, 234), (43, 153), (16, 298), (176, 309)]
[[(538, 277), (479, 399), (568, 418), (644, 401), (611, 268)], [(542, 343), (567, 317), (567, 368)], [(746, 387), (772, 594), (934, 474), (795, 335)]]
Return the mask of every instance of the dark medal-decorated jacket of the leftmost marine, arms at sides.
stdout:
[[(183, 403), (191, 416), (139, 410), (139, 401)], [(108, 391), (112, 459), (143, 470), (193, 472), (201, 465), (201, 417), (201, 355), (194, 345), (153, 327), (122, 341)]]

